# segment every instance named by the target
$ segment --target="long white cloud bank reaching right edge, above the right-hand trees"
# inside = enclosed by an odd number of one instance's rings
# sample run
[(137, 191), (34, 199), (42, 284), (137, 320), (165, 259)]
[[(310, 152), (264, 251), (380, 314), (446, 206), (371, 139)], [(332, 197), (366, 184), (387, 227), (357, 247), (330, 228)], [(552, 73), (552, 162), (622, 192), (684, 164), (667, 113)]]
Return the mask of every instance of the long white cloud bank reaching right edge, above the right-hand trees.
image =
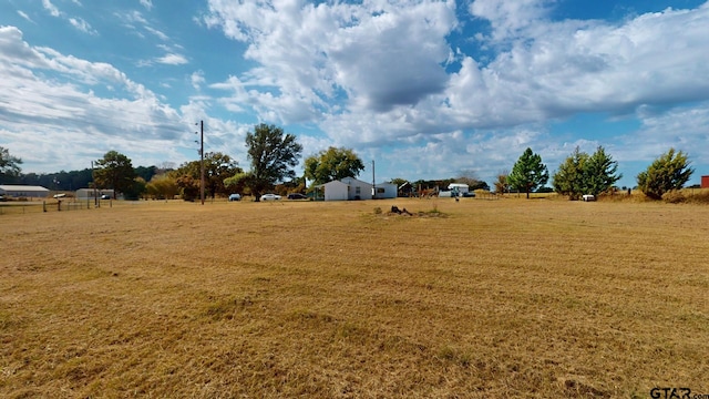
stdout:
[(487, 65), (464, 59), (451, 79), (448, 111), (473, 126), (515, 125), (707, 99), (707, 8), (619, 25), (547, 22), (535, 27), (536, 35), (511, 41)]

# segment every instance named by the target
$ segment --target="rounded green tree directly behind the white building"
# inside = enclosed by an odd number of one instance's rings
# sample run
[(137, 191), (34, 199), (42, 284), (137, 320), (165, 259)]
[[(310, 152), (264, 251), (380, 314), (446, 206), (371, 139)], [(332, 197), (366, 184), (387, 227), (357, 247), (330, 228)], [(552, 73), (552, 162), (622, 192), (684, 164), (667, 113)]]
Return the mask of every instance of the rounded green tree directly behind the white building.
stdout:
[(314, 185), (325, 184), (345, 177), (357, 177), (364, 170), (364, 163), (349, 149), (329, 147), (305, 161), (305, 176)]

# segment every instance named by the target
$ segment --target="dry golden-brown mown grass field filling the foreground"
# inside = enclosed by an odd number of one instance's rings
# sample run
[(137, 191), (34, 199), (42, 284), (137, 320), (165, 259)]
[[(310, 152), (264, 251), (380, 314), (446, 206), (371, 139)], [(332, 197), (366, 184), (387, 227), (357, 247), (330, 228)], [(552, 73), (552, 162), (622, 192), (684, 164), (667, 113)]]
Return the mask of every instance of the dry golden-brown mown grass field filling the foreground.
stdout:
[(706, 205), (117, 202), (0, 234), (0, 397), (709, 393)]

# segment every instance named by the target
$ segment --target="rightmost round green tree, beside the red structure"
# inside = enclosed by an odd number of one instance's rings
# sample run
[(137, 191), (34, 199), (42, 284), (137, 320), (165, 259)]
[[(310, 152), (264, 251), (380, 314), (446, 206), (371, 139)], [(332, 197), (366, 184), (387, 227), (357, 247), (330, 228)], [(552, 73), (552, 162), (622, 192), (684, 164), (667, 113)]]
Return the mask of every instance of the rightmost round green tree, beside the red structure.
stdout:
[(695, 173), (695, 170), (689, 167), (689, 163), (687, 154), (669, 149), (667, 153), (655, 160), (646, 171), (638, 174), (638, 188), (648, 197), (660, 200), (662, 194), (680, 190), (689, 181), (691, 174)]

